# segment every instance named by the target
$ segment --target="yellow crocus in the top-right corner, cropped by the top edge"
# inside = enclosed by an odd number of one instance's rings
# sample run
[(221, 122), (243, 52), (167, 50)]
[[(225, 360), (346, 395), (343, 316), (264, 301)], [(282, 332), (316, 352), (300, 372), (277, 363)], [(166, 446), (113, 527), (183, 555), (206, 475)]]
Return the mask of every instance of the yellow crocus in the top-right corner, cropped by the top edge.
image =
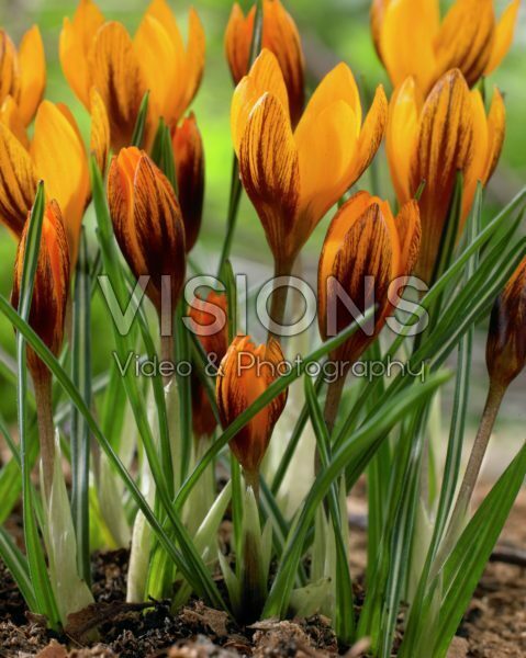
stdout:
[(506, 56), (519, 4), (497, 22), (493, 0), (456, 0), (440, 21), (439, 0), (373, 0), (372, 36), (395, 87), (412, 76), (426, 93), (452, 68), (472, 87)]

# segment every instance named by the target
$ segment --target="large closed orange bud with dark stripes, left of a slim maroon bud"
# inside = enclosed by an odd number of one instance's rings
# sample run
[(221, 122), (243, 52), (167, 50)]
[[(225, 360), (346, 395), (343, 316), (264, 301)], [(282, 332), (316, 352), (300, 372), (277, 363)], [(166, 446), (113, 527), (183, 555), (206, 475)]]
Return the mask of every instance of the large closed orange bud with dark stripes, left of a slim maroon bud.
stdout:
[(108, 200), (116, 240), (134, 276), (150, 277), (146, 294), (159, 314), (163, 277), (169, 277), (174, 308), (184, 281), (184, 226), (168, 179), (144, 151), (123, 148), (110, 166)]

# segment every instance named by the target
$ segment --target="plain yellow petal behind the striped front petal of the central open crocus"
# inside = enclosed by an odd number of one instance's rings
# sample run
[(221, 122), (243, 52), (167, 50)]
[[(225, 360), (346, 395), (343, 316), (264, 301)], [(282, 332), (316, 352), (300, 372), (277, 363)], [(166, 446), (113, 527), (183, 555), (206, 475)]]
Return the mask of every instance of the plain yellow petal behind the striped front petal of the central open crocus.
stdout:
[(248, 116), (254, 105), (267, 92), (278, 99), (286, 112), (289, 112), (287, 87), (278, 60), (270, 50), (264, 49), (256, 58), (248, 76), (245, 76), (236, 87), (232, 99), (232, 140), (237, 155), (239, 155), (239, 145), (245, 134)]

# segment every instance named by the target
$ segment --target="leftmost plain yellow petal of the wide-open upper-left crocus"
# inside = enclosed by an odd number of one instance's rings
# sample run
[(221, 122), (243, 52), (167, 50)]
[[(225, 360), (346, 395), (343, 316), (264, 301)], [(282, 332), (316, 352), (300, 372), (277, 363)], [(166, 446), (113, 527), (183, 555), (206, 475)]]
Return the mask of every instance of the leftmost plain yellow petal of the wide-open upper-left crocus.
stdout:
[(91, 0), (80, 0), (72, 21), (64, 19), (59, 39), (59, 57), (64, 76), (77, 98), (89, 109), (91, 87), (89, 53), (104, 16)]

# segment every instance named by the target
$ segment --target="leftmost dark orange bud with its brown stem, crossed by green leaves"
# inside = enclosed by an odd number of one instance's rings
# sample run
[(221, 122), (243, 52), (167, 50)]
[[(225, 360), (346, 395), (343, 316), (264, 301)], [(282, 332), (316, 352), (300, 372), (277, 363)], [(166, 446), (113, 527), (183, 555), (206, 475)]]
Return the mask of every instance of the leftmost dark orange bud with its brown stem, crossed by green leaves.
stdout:
[[(30, 220), (19, 242), (14, 263), (11, 303), (18, 308), (21, 296), (22, 271)], [(66, 228), (58, 204), (52, 200), (45, 207), (42, 222), (41, 248), (30, 309), (30, 325), (51, 352), (58, 356), (63, 340), (69, 294), (70, 261)], [(30, 368), (36, 396), (38, 435), (46, 495), (49, 495), (55, 455), (52, 412), (52, 374), (35, 352), (27, 348)]]

